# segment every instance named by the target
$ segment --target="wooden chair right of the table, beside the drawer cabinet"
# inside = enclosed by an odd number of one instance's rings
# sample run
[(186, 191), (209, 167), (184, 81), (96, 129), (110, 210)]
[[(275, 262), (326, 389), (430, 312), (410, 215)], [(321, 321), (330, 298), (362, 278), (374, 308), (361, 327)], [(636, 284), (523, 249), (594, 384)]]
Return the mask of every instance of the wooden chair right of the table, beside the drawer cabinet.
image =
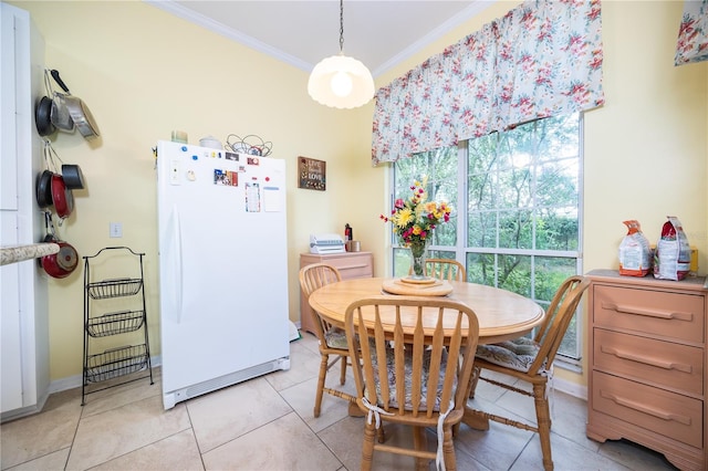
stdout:
[[(543, 323), (533, 338), (520, 337), (500, 344), (479, 345), (477, 347), (470, 397), (473, 397), (479, 379), (533, 397), (537, 425), (530, 426), (492, 414), (478, 412), (489, 420), (538, 432), (543, 453), (543, 468), (546, 470), (553, 469), (551, 415), (548, 399), (549, 379), (553, 375), (553, 360), (558, 348), (587, 286), (590, 286), (590, 280), (586, 278), (575, 275), (566, 279), (555, 292), (546, 310)], [(513, 378), (513, 383), (519, 379), (530, 383), (532, 391), (512, 386), (502, 380), (481, 376), (483, 369), (508, 375)]]

